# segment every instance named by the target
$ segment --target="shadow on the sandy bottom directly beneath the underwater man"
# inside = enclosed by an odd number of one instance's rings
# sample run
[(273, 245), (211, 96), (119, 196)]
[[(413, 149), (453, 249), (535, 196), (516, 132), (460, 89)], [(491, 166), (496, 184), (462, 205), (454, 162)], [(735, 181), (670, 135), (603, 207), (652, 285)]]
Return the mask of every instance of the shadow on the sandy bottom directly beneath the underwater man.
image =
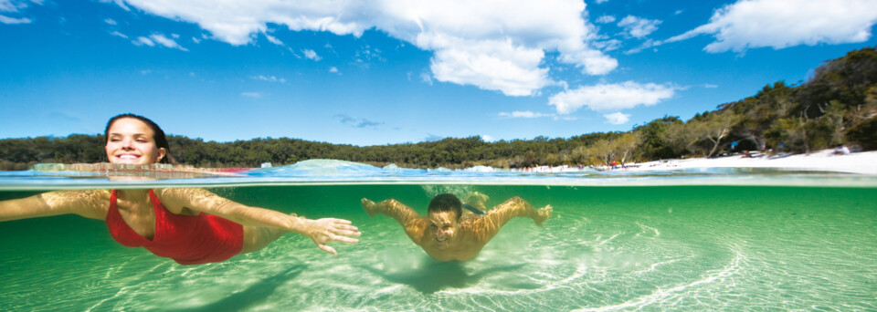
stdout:
[(484, 276), (512, 271), (522, 266), (523, 264), (491, 267), (472, 275), (466, 273), (465, 266), (461, 262), (436, 262), (431, 259), (425, 267), (389, 274), (371, 266), (363, 265), (361, 267), (377, 276), (383, 276), (387, 281), (406, 284), (421, 293), (432, 294), (446, 288), (464, 288), (474, 285)]

